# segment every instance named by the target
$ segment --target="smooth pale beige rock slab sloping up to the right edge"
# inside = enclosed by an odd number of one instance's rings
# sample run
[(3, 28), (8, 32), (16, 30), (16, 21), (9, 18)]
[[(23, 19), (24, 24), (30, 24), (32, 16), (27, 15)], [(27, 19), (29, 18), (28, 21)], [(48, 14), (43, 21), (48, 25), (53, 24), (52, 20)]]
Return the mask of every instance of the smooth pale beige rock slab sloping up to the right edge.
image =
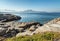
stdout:
[(34, 33), (41, 33), (41, 32), (59, 32), (60, 33), (60, 18), (54, 19), (41, 27), (38, 27)]

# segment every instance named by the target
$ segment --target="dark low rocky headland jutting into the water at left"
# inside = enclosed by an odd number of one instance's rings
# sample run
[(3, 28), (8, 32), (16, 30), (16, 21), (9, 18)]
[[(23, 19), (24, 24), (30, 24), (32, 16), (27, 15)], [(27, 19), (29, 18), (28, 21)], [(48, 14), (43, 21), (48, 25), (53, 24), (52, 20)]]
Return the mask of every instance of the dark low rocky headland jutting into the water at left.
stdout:
[(11, 15), (11, 14), (0, 14), (0, 21), (1, 22), (8, 22), (8, 21), (14, 21), (14, 20), (19, 20), (21, 17)]

